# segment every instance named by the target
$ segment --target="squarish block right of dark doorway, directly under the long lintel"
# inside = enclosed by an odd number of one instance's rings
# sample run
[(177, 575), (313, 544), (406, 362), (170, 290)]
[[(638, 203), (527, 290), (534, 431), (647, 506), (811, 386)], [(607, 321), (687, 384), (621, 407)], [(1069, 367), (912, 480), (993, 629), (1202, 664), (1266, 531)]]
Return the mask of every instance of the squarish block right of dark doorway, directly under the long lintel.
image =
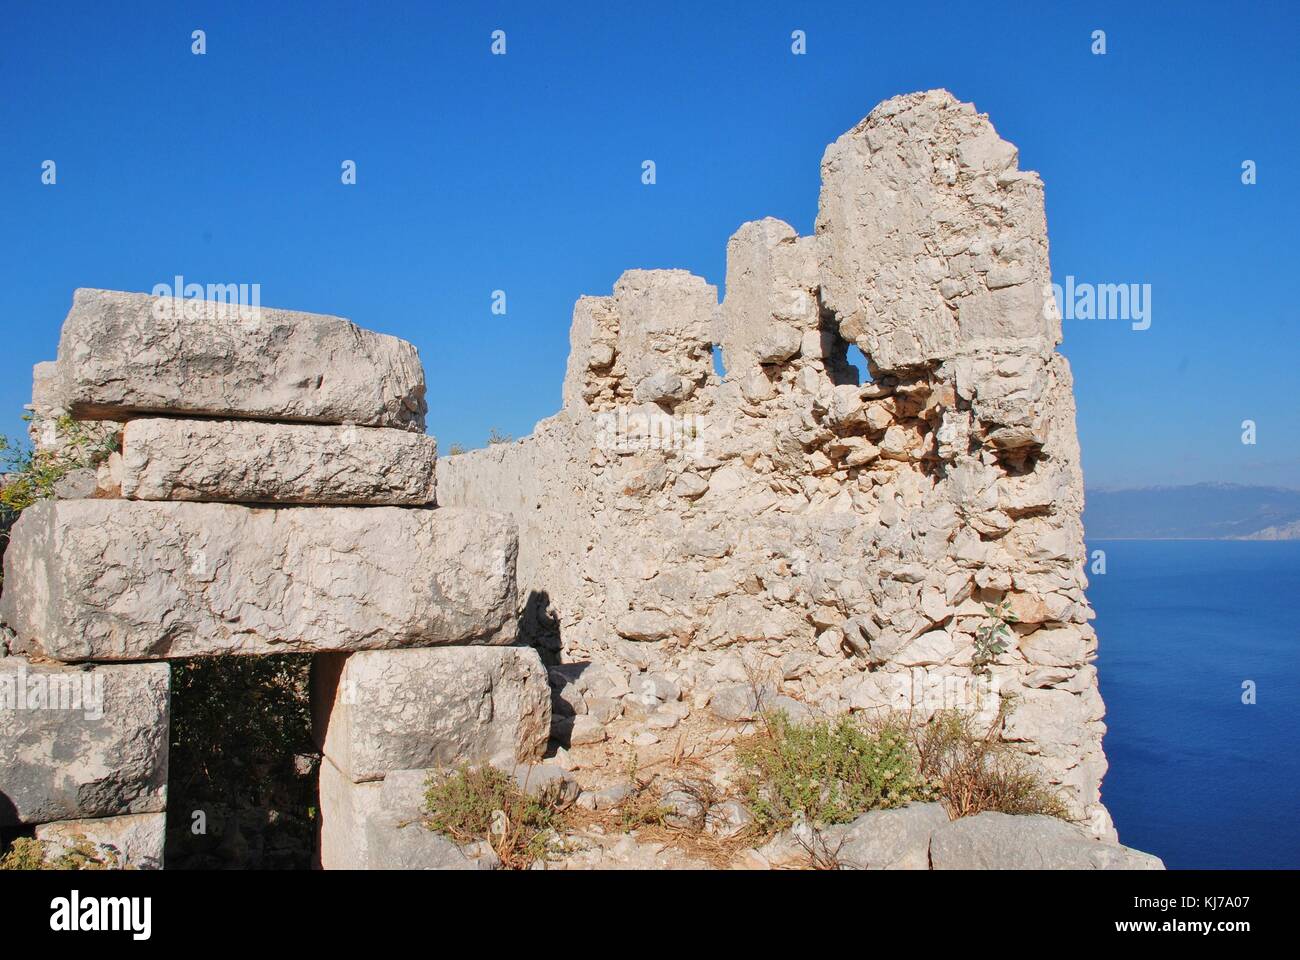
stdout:
[(322, 656), (312, 706), (321, 752), (352, 780), (393, 770), (537, 760), (551, 693), (528, 647), (442, 647)]

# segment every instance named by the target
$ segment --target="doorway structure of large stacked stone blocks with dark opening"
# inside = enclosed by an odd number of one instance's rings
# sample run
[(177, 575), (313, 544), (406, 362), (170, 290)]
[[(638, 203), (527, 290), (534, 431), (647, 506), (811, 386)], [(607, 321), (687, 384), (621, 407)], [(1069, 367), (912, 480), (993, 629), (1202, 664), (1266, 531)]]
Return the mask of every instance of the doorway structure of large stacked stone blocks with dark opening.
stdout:
[(424, 392), (413, 346), (339, 317), (77, 291), (32, 434), (94, 418), (121, 450), (12, 531), (0, 825), (161, 866), (179, 657), (316, 654), (326, 869), (400, 846), (389, 773), (541, 757), (515, 527), (434, 509)]

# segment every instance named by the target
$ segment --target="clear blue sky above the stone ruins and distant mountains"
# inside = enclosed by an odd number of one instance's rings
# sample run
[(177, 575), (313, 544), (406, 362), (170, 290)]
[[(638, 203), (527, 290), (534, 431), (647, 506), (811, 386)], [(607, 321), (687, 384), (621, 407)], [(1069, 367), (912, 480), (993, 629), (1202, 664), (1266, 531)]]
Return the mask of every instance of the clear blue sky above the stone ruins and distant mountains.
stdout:
[(1149, 330), (1066, 323), (1089, 484), (1300, 487), (1300, 5), (464, 7), (6, 0), (0, 432), (74, 287), (181, 273), (413, 341), (443, 449), (521, 436), (580, 294), (630, 267), (722, 286), (741, 222), (811, 232), (828, 142), (942, 86), (1041, 172), (1058, 281), (1153, 286)]

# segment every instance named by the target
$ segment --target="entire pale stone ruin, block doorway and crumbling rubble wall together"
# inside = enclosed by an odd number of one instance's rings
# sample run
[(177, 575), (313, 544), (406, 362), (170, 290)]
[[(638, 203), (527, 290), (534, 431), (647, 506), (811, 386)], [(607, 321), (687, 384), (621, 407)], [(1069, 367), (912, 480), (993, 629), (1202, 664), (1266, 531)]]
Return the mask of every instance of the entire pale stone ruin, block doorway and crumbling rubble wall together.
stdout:
[(103, 709), (0, 710), (0, 825), (160, 865), (168, 660), (300, 652), (325, 868), (419, 861), (421, 770), (692, 706), (976, 712), (1113, 839), (1049, 284), (1039, 176), (930, 91), (827, 148), (814, 235), (737, 230), (722, 304), (685, 271), (580, 298), (560, 412), (441, 460), (408, 343), (78, 290), (36, 425), (121, 453), (16, 524), (0, 684)]

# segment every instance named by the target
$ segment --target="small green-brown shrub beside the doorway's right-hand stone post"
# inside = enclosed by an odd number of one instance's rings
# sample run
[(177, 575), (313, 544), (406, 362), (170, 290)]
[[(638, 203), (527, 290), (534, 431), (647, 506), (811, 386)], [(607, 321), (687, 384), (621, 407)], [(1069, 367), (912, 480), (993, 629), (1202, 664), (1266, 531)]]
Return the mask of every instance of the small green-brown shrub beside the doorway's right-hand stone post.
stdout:
[(558, 791), (528, 793), (494, 766), (462, 764), (429, 777), (425, 826), (456, 843), (485, 840), (507, 869), (528, 869), (546, 855), (560, 823)]

